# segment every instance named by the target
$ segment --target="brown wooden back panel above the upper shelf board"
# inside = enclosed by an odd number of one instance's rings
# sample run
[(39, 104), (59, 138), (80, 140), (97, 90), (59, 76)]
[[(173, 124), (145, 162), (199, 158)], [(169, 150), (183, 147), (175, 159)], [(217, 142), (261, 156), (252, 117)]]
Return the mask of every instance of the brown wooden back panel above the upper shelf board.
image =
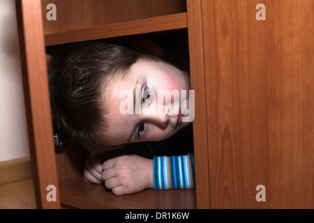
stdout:
[[(45, 34), (186, 12), (185, 0), (42, 0)], [(57, 6), (48, 21), (47, 4)]]

